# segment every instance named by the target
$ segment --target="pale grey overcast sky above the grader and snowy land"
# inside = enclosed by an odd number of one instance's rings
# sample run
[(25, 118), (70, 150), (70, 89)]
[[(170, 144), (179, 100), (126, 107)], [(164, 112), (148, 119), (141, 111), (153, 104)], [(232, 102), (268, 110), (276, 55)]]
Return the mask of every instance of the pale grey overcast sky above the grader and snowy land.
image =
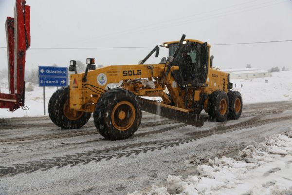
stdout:
[[(0, 0), (0, 47), (4, 23), (15, 0)], [(136, 64), (151, 48), (48, 50), (33, 47), (155, 46), (164, 41), (199, 39), (209, 44), (292, 39), (292, 0), (27, 0), (31, 6), (31, 49), (26, 68), (68, 66), (71, 59), (96, 64)], [(292, 42), (212, 46), (214, 66), (289, 67)], [(158, 63), (167, 53), (162, 49)], [(7, 50), (0, 48), (0, 69)]]

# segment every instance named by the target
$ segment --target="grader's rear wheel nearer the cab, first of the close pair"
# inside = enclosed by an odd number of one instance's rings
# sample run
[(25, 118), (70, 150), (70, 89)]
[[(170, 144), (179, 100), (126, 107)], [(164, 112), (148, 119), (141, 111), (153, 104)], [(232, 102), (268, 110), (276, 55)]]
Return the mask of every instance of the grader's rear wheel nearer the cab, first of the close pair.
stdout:
[(213, 92), (208, 101), (208, 115), (210, 120), (223, 122), (227, 120), (229, 111), (228, 96), (223, 91)]

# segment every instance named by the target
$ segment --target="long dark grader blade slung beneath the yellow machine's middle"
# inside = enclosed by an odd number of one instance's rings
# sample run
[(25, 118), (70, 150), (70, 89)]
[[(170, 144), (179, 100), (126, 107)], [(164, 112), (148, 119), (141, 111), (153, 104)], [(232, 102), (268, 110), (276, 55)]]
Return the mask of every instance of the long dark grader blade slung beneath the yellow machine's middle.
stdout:
[(154, 115), (170, 118), (195, 127), (201, 127), (204, 124), (203, 118), (200, 115), (189, 113), (188, 110), (144, 98), (139, 98), (139, 101), (143, 111)]

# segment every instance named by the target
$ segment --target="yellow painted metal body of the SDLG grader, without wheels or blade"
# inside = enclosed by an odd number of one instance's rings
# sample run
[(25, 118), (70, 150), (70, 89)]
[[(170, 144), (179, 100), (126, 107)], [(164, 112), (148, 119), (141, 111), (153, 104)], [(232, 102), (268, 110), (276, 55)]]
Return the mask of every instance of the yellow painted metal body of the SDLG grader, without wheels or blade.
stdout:
[[(185, 39), (190, 42), (203, 43), (199, 40)], [(165, 42), (167, 44), (177, 43), (179, 41)], [(216, 68), (210, 67), (210, 45), (209, 49), (209, 67), (206, 78), (206, 86), (200, 87), (194, 91), (195, 96), (190, 97), (193, 101), (199, 101), (200, 96), (211, 94), (213, 91), (228, 92), (228, 74), (219, 71)], [(159, 96), (163, 98), (164, 104), (169, 104), (170, 100), (164, 93), (165, 87), (168, 89), (175, 106), (182, 109), (187, 109), (184, 103), (185, 92), (177, 86), (175, 79), (171, 73), (179, 70), (179, 66), (171, 66), (166, 77), (159, 82), (155, 82), (155, 89), (144, 88), (141, 85), (127, 84), (127, 81), (148, 78), (162, 78), (165, 64), (132, 64), (132, 65), (111, 65), (102, 68), (97, 68), (88, 72), (87, 81), (83, 81), (84, 73), (72, 74), (70, 76), (70, 108), (76, 111), (94, 112), (95, 104), (101, 94), (107, 90), (109, 83), (119, 83), (123, 81), (123, 88), (133, 92), (137, 96)], [(95, 88), (91, 87), (95, 86)], [(192, 102), (189, 102), (192, 103)]]

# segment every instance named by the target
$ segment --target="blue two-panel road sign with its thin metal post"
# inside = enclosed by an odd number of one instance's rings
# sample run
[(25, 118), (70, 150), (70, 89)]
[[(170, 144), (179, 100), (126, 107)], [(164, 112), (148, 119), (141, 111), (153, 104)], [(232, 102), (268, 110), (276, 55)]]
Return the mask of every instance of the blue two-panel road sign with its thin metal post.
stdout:
[(45, 87), (64, 87), (68, 85), (68, 68), (57, 66), (38, 66), (38, 86), (43, 87), (44, 115), (46, 115)]

